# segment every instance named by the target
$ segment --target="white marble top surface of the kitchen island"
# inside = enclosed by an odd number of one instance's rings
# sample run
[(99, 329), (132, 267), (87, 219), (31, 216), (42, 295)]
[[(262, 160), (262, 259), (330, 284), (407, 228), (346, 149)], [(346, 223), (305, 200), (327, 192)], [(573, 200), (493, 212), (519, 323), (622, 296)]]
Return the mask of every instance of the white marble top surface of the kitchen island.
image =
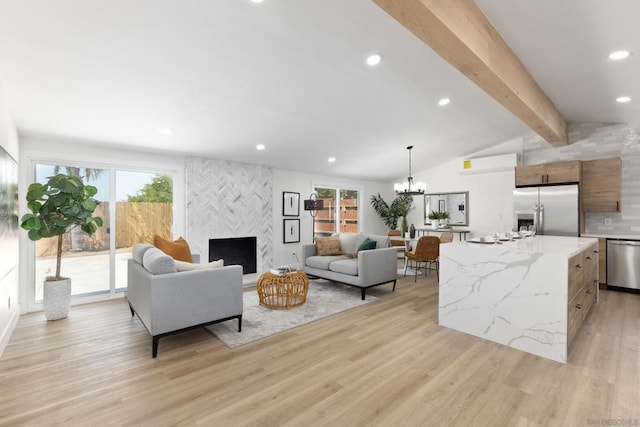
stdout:
[(474, 243), (469, 240), (453, 242), (453, 244), (476, 246), (479, 248), (486, 248), (488, 250), (504, 251), (506, 249), (528, 253), (565, 255), (570, 257), (594, 242), (597, 242), (597, 240), (591, 237), (533, 236), (494, 244)]

